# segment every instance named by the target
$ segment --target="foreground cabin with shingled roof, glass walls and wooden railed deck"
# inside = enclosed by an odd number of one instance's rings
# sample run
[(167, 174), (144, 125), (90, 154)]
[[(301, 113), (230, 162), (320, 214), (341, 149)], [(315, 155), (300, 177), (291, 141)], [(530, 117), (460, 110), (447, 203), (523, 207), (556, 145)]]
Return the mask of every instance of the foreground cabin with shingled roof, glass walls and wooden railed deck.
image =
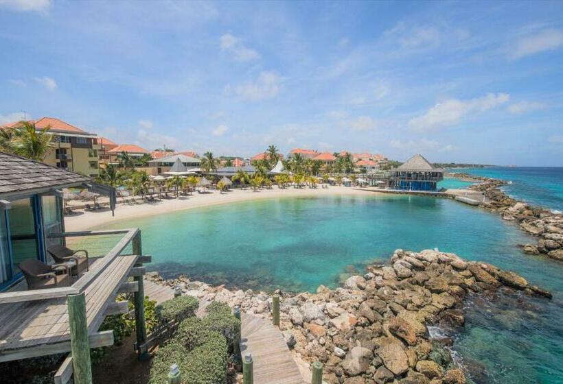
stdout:
[(0, 152), (0, 362), (72, 351), (54, 382), (75, 373), (75, 383), (91, 383), (90, 348), (113, 344), (113, 331), (99, 328), (129, 311), (115, 301), (124, 289), (135, 292), (137, 351), (146, 356), (142, 264), (150, 256), (141, 256), (137, 228), (66, 232), (69, 187), (106, 192), (115, 206), (115, 190), (87, 176)]

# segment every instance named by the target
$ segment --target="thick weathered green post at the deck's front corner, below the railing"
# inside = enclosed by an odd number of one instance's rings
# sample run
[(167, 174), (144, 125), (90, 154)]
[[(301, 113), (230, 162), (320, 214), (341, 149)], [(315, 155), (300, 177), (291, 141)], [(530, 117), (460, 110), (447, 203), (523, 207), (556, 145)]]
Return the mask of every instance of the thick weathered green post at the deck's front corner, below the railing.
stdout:
[(84, 293), (67, 296), (74, 383), (92, 384), (90, 342)]

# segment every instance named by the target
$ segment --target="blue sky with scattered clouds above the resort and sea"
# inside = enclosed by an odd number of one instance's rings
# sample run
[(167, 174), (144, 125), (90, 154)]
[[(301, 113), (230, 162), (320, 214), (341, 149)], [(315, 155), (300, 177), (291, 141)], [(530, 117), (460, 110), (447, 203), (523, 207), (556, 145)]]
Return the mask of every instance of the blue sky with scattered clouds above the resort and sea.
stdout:
[(0, 122), (563, 166), (562, 2), (0, 0)]

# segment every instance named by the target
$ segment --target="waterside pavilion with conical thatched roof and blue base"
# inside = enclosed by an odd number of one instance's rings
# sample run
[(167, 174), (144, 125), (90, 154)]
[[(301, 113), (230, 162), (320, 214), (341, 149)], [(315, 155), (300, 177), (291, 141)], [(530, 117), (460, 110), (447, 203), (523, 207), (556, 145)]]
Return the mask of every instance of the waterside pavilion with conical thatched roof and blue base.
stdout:
[(444, 169), (435, 168), (420, 154), (391, 170), (391, 187), (407, 191), (436, 191), (444, 180)]

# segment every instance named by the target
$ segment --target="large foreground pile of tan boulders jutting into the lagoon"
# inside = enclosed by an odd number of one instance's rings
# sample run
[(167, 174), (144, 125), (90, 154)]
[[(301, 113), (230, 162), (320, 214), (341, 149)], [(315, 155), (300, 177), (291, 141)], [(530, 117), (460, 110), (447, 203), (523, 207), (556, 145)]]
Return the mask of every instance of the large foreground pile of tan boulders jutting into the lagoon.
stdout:
[[(161, 283), (271, 318), (271, 297), (264, 292), (229, 291), (187, 278)], [(490, 264), (433, 250), (396, 250), (391, 265), (371, 265), (343, 287), (281, 293), (280, 329), (298, 362), (324, 364), (326, 383), (461, 384), (466, 377), (452, 361), (452, 340), (434, 339), (428, 326), (463, 326), (466, 296), (498, 289), (551, 297)]]

